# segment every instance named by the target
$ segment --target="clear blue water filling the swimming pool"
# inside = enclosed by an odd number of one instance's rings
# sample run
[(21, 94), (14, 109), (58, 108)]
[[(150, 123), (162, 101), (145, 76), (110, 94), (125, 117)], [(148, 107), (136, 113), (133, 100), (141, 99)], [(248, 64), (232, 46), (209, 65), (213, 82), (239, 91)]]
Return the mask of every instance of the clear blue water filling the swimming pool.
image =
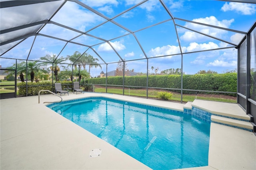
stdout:
[(48, 107), (152, 169), (208, 165), (210, 124), (183, 112), (102, 97)]

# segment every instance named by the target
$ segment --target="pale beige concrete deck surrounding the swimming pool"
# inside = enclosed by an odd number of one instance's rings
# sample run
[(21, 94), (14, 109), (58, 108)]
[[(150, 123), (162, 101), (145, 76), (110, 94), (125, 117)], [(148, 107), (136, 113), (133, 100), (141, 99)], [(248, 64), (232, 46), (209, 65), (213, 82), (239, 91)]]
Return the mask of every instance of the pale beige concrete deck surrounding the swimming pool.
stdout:
[[(104, 96), (174, 110), (183, 110), (184, 106), (181, 103), (102, 93), (66, 94), (62, 98), (70, 100), (88, 96)], [(38, 96), (0, 100), (1, 170), (150, 169), (43, 104), (59, 100), (52, 94), (41, 95), (40, 104)], [(218, 102), (218, 109), (222, 105), (226, 108), (225, 104)], [(94, 148), (100, 148), (102, 154), (90, 158), (89, 153)], [(208, 166), (186, 169), (255, 170), (255, 160), (254, 133), (212, 123)]]

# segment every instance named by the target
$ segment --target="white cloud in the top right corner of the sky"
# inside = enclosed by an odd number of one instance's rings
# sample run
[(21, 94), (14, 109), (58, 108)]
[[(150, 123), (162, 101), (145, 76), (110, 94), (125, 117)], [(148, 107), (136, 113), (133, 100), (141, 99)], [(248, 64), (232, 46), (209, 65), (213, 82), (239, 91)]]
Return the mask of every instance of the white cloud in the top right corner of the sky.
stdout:
[(256, 12), (256, 5), (255, 4), (244, 4), (244, 3), (237, 3), (237, 2), (226, 2), (222, 8), (222, 11), (236, 11), (237, 13), (241, 13), (242, 15), (252, 15)]

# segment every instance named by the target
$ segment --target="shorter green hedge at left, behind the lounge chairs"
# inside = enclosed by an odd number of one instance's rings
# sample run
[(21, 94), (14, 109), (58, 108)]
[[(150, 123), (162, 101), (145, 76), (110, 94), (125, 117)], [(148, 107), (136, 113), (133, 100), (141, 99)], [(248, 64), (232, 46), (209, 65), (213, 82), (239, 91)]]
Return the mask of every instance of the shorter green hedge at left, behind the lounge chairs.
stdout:
[[(71, 88), (71, 81), (60, 82), (62, 84), (62, 89), (69, 86)], [(66, 85), (67, 84), (67, 85)], [(26, 82), (21, 82), (17, 84), (18, 86), (18, 95), (26, 96)], [(53, 84), (53, 89), (55, 89)], [(40, 90), (50, 90), (52, 91), (52, 82), (28, 82), (28, 96), (36, 96)], [(54, 92), (54, 91), (53, 91)], [(41, 92), (40, 94), (48, 94), (48, 92)]]

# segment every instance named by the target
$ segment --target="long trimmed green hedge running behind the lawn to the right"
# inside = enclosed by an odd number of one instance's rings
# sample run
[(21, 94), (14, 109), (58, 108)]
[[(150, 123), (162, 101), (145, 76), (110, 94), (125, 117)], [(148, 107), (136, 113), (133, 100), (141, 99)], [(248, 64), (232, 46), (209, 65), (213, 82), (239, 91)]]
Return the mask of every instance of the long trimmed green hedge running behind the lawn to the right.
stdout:
[[(122, 76), (108, 77), (108, 84), (122, 85)], [(146, 76), (125, 76), (125, 86), (146, 87)], [(236, 92), (237, 74), (194, 74), (183, 75), (183, 89)], [(106, 78), (91, 78), (88, 84), (106, 84)], [(181, 88), (180, 75), (148, 76), (148, 87)], [(179, 90), (173, 90), (179, 91)], [(183, 91), (184, 94), (195, 92)]]

